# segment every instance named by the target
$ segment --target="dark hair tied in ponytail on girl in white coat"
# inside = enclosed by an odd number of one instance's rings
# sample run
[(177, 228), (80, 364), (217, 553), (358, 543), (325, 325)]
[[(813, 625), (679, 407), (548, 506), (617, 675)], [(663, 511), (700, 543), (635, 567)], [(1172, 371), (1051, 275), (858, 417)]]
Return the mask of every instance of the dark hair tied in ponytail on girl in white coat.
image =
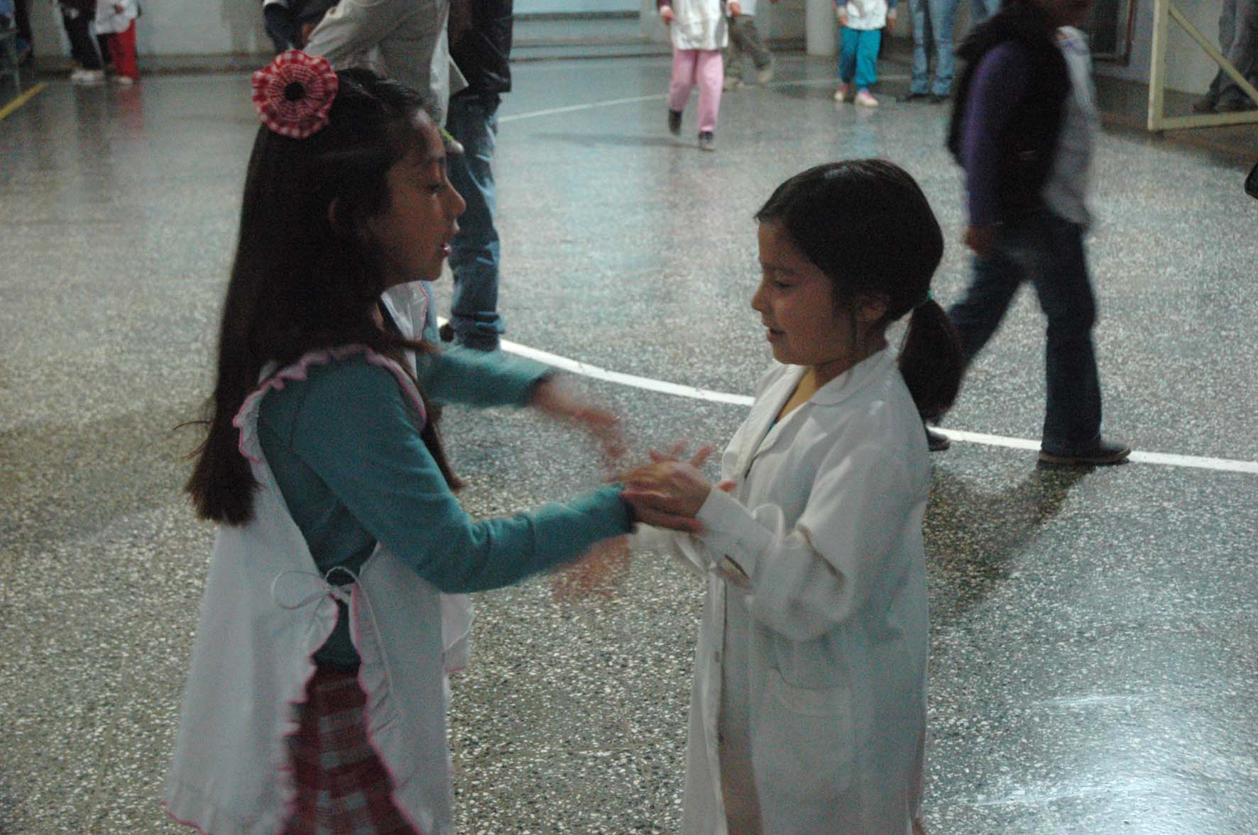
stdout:
[(921, 187), (886, 160), (830, 162), (777, 186), (756, 220), (780, 224), (834, 283), (839, 309), (881, 298), (874, 327), (912, 312), (899, 372), (922, 418), (938, 418), (961, 387), (961, 340), (927, 294), (944, 257), (944, 233)]

